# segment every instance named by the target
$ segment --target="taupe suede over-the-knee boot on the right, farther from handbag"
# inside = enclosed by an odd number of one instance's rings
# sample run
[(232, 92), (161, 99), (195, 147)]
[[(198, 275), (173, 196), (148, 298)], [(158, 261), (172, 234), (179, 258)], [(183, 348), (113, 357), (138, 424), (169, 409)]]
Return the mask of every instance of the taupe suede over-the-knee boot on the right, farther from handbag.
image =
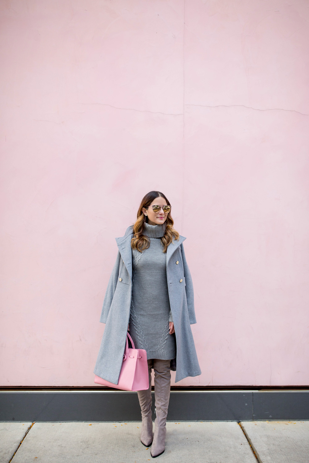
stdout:
[(170, 401), (170, 360), (153, 360), (155, 372), (156, 419), (151, 445), (151, 457), (161, 455), (165, 450), (166, 417)]

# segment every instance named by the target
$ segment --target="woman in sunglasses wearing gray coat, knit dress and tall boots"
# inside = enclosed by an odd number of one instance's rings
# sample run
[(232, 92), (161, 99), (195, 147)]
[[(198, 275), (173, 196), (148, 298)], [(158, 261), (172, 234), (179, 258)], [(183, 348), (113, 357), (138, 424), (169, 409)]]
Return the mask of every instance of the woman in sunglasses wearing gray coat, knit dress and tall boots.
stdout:
[[(95, 374), (118, 383), (126, 332), (135, 348), (145, 349), (149, 389), (138, 391), (142, 414), (141, 442), (151, 443), (151, 457), (165, 449), (166, 416), (170, 399), (170, 369), (176, 382), (197, 376), (190, 324), (196, 323), (193, 286), (183, 250), (186, 239), (174, 230), (170, 203), (151, 191), (139, 206), (137, 220), (122, 238), (107, 286), (100, 321), (106, 323)], [(128, 323), (129, 322), (129, 323)], [(155, 374), (155, 432), (152, 432), (151, 368)]]

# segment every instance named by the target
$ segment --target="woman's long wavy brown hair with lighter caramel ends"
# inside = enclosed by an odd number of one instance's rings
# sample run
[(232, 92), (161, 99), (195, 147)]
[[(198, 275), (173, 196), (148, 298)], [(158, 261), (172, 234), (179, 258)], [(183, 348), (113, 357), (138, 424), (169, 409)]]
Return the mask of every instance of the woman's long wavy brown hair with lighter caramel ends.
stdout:
[[(137, 220), (133, 225), (133, 238), (131, 240), (132, 249), (137, 249), (139, 252), (143, 252), (144, 249), (149, 248), (150, 239), (143, 235), (145, 229), (145, 222), (148, 223), (148, 217), (143, 213), (143, 207), (148, 207), (151, 205), (152, 201), (158, 197), (164, 198), (166, 204), (170, 206), (170, 201), (167, 197), (160, 191), (150, 191), (145, 194), (142, 202), (140, 203), (139, 210), (137, 213)], [(161, 238), (161, 243), (163, 244), (163, 252), (166, 252), (167, 246), (173, 241), (173, 239), (179, 239), (179, 233), (174, 230), (174, 220), (171, 218), (170, 212), (167, 214), (164, 224), (166, 223), (166, 229), (164, 236)]]

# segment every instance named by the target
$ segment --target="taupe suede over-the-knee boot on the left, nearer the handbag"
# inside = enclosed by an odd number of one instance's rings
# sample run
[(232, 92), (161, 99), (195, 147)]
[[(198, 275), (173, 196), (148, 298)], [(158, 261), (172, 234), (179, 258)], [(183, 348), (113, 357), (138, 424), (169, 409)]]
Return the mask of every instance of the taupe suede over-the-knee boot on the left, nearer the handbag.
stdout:
[(151, 445), (153, 440), (152, 432), (152, 412), (151, 412), (151, 367), (152, 360), (148, 360), (148, 373), (149, 373), (149, 388), (144, 391), (137, 391), (139, 397), (139, 405), (142, 413), (142, 429), (140, 434), (140, 441), (146, 447)]

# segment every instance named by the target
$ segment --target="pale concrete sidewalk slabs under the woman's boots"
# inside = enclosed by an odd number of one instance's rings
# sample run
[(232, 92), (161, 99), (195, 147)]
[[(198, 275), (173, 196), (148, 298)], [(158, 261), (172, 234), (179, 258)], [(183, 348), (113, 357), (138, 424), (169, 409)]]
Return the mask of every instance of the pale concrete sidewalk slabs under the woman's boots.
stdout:
[[(12, 463), (152, 461), (150, 448), (146, 449), (139, 440), (140, 422), (37, 422), (30, 426), (26, 422), (0, 423), (0, 463), (9, 463), (14, 452)], [(308, 463), (309, 422), (247, 421), (240, 425), (224, 421), (168, 422), (165, 452), (156, 460), (158, 463), (257, 461)]]

